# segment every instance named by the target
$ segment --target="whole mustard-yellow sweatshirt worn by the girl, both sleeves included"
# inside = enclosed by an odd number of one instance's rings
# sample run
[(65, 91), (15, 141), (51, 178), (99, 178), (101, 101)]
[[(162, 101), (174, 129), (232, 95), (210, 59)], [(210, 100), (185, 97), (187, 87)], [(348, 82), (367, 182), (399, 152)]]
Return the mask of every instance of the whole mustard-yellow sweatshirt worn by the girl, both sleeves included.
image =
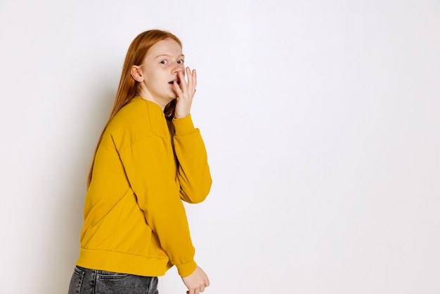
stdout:
[(135, 97), (113, 118), (93, 165), (77, 265), (139, 276), (180, 276), (195, 267), (181, 200), (205, 200), (212, 179), (190, 115), (167, 122)]

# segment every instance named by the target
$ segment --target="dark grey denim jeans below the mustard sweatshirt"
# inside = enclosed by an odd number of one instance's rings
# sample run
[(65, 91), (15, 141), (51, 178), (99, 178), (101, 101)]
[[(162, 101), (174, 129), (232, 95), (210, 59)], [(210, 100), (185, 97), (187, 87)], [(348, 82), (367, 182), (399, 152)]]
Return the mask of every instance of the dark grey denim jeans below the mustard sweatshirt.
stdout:
[(158, 294), (156, 276), (75, 267), (68, 294)]

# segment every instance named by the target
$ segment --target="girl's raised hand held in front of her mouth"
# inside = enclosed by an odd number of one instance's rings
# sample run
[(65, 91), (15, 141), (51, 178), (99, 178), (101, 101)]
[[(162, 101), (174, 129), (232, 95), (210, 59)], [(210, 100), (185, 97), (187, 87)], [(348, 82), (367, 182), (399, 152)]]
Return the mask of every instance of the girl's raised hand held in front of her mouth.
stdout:
[(180, 84), (174, 82), (174, 91), (177, 95), (176, 110), (174, 112), (174, 117), (176, 118), (186, 117), (190, 114), (191, 103), (193, 103), (195, 94), (195, 85), (197, 84), (197, 74), (195, 70), (191, 71), (190, 68), (186, 68), (185, 70), (188, 82), (186, 82), (183, 72), (179, 72)]

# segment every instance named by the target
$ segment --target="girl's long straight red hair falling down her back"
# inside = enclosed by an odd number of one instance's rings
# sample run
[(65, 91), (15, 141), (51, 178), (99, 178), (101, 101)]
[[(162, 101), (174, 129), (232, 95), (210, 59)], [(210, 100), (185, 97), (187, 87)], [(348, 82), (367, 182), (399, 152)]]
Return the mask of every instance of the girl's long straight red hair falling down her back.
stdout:
[[(156, 44), (158, 41), (164, 39), (173, 39), (180, 46), (182, 46), (179, 38), (174, 36), (174, 34), (162, 31), (162, 30), (148, 30), (138, 34), (136, 38), (131, 42), (129, 50), (127, 51), (127, 56), (125, 57), (124, 66), (122, 68), (121, 80), (119, 81), (119, 87), (117, 88), (115, 103), (113, 103), (112, 112), (108, 121), (105, 124), (103, 132), (98, 139), (98, 144), (95, 148), (95, 153), (93, 154), (93, 160), (91, 161), (91, 167), (89, 171), (89, 178), (87, 179), (87, 187), (90, 186), (91, 177), (93, 174), (93, 163), (95, 162), (96, 151), (98, 151), (99, 144), (103, 139), (103, 134), (105, 129), (107, 129), (108, 124), (112, 121), (113, 117), (118, 113), (121, 108), (123, 108), (127, 103), (131, 101), (132, 98), (138, 96), (139, 83), (136, 82), (133, 77), (131, 77), (131, 67), (133, 65), (141, 65), (145, 55), (148, 50)], [(176, 107), (176, 101), (170, 102), (164, 109), (164, 113), (168, 119), (174, 117), (174, 109)]]

